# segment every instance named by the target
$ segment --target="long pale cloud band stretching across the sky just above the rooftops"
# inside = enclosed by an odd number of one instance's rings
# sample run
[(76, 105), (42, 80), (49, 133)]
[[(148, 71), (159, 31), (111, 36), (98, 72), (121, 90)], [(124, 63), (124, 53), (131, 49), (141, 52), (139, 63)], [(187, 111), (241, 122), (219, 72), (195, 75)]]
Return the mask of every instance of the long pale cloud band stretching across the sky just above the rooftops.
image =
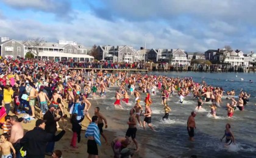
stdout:
[[(108, 21), (99, 19), (90, 12), (78, 12), (77, 19), (69, 24), (62, 22), (44, 24), (33, 19), (0, 19), (0, 35), (10, 36), (16, 40), (27, 40), (34, 37), (43, 37), (47, 41), (73, 40), (84, 46), (96, 45), (129, 45), (137, 49), (144, 47), (145, 35), (146, 48), (185, 49), (188, 52), (207, 49), (217, 49), (229, 44), (233, 49), (245, 52), (256, 47), (255, 31), (249, 32), (243, 27), (243, 35), (238, 27), (228, 22), (213, 21), (200, 25), (193, 22), (186, 27), (181, 19), (178, 24), (169, 24), (163, 21), (126, 21), (116, 19)], [(190, 21), (191, 22), (191, 21)], [(189, 22), (188, 22), (189, 23)], [(179, 29), (182, 26), (182, 29)], [(7, 34), (8, 33), (8, 34)], [(241, 35), (233, 38), (233, 35)], [(243, 40), (246, 39), (246, 40)], [(247, 40), (248, 39), (248, 40)]]

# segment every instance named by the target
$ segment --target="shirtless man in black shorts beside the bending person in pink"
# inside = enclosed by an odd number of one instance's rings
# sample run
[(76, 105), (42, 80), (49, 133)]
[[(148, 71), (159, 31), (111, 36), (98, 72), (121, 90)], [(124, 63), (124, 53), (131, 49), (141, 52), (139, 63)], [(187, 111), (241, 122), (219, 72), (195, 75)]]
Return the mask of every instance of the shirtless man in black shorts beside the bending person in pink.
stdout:
[(127, 122), (127, 124), (129, 125), (129, 128), (126, 131), (126, 139), (128, 139), (129, 137), (132, 137), (132, 141), (135, 143), (136, 145), (136, 150), (138, 151), (138, 143), (137, 140), (135, 139), (136, 137), (136, 132), (137, 132), (137, 122), (136, 122), (136, 118), (135, 118), (135, 109), (130, 109), (130, 117), (129, 117), (129, 122)]

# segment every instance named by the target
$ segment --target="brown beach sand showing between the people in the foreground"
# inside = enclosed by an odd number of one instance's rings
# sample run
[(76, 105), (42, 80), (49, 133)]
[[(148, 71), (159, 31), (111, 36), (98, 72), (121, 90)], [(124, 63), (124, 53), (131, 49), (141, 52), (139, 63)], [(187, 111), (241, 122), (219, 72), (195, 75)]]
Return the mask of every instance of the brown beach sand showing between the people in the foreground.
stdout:
[[(98, 105), (96, 105), (96, 102), (93, 100), (90, 100), (91, 102), (91, 108), (90, 108), (90, 116), (92, 117), (94, 115), (94, 108)], [(66, 107), (68, 105), (66, 104)], [(36, 108), (37, 112), (35, 113), (37, 118), (39, 116), (39, 109)], [(67, 114), (67, 109), (65, 109), (65, 114)], [(23, 117), (24, 114), (19, 115), (19, 117)], [(104, 128), (104, 134), (108, 139), (108, 144), (106, 145), (104, 142), (104, 139), (101, 137), (101, 146), (98, 146), (99, 149), (99, 157), (113, 157), (113, 151), (112, 148), (110, 146), (110, 143), (112, 142), (112, 140), (116, 137), (116, 136), (125, 136), (125, 131), (126, 129), (121, 129), (119, 128), (117, 125), (115, 125), (114, 122), (110, 122), (110, 118), (108, 118), (107, 116), (105, 116), (106, 119), (108, 120), (108, 128), (105, 129)], [(30, 123), (23, 123), (23, 128), (24, 131), (27, 132), (29, 130), (32, 130), (35, 127), (35, 120), (32, 120)], [(78, 148), (73, 148), (70, 146), (70, 142), (71, 142), (71, 138), (73, 136), (73, 132), (71, 130), (72, 125), (69, 122), (69, 115), (68, 118), (65, 119), (65, 122), (67, 122), (68, 125), (68, 131), (66, 131), (65, 135), (62, 137), (62, 139), (59, 142), (55, 143), (55, 148), (54, 149), (60, 149), (62, 151), (62, 156), (63, 157), (77, 157), (77, 158), (84, 158), (87, 157), (87, 139), (84, 137), (85, 135), (85, 130), (87, 129), (88, 126), (88, 119), (85, 117), (85, 119), (82, 122), (82, 131), (81, 131), (81, 141), (80, 143), (77, 143)], [(63, 122), (60, 120), (59, 121), (59, 125), (60, 128), (58, 128), (58, 132), (60, 132), (62, 130), (62, 126), (63, 126)], [(111, 129), (111, 131), (109, 130)], [(121, 133), (119, 133), (119, 130), (122, 130)], [(113, 132), (113, 131), (117, 131), (117, 132)], [(130, 149), (134, 149), (135, 145), (133, 145), (133, 143), (131, 143), (131, 145), (129, 146)], [(49, 156), (46, 156), (49, 157)], [(135, 153), (133, 157), (141, 157), (138, 155), (138, 153)]]

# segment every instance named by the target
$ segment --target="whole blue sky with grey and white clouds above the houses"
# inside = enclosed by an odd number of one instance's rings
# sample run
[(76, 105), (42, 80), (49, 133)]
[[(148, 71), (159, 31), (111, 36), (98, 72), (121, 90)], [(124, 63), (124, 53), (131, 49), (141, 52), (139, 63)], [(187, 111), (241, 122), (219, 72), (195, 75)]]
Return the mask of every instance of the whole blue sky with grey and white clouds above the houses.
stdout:
[(254, 0), (0, 0), (0, 36), (205, 52), (256, 48)]

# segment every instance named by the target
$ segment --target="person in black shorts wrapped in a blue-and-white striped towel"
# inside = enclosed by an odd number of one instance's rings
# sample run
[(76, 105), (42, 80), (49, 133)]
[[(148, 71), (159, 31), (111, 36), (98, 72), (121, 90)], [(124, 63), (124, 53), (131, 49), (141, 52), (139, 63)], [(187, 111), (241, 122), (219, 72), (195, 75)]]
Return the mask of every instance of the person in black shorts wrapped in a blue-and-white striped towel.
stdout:
[(98, 146), (101, 146), (101, 135), (99, 133), (99, 128), (97, 123), (99, 121), (99, 117), (94, 115), (91, 118), (91, 123), (88, 125), (88, 128), (85, 132), (85, 137), (88, 138), (87, 141), (87, 153), (88, 158), (98, 158)]

